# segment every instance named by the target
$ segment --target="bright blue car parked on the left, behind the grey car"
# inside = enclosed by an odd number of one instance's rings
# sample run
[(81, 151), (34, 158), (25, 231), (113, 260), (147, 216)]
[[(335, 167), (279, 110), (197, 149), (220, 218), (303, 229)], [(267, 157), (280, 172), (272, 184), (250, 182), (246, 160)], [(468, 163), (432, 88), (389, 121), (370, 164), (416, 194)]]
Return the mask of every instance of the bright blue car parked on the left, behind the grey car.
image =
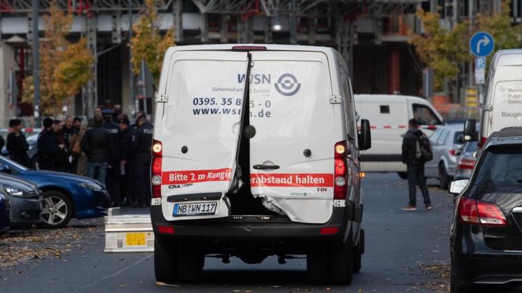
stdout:
[(0, 172), (31, 181), (43, 191), (42, 227), (58, 228), (71, 218), (98, 218), (106, 215), (109, 193), (98, 181), (70, 173), (29, 170), (0, 156)]

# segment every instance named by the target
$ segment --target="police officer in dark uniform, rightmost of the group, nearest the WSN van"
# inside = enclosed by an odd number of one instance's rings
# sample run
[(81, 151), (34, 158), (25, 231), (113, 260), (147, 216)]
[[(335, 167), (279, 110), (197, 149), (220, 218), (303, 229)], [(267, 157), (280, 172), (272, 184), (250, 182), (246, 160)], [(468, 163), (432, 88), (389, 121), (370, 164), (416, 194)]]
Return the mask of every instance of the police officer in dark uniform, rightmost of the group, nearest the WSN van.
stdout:
[(149, 206), (151, 203), (151, 145), (152, 124), (142, 114), (136, 119), (136, 134), (133, 146), (135, 147), (135, 190), (137, 203), (134, 206)]

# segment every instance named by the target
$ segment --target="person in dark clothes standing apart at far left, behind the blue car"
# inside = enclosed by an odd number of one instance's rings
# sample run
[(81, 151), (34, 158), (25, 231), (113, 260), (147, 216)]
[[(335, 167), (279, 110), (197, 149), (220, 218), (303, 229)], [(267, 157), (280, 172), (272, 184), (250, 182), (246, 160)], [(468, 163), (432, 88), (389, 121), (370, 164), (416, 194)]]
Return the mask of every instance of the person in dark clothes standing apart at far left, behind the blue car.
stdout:
[(22, 121), (20, 119), (11, 119), (9, 121), (9, 127), (11, 132), (7, 135), (6, 148), (9, 151), (9, 158), (17, 163), (30, 167), (29, 162), (29, 144), (25, 139), (25, 135), (22, 133)]

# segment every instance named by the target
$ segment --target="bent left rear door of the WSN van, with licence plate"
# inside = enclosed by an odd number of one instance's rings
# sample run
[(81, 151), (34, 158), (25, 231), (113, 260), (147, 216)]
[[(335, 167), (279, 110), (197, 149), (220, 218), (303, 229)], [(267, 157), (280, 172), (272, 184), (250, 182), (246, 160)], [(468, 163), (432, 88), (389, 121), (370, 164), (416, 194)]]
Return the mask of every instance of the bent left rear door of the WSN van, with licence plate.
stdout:
[(236, 168), (246, 52), (179, 51), (167, 75), (163, 107), (163, 216), (228, 216), (223, 199)]

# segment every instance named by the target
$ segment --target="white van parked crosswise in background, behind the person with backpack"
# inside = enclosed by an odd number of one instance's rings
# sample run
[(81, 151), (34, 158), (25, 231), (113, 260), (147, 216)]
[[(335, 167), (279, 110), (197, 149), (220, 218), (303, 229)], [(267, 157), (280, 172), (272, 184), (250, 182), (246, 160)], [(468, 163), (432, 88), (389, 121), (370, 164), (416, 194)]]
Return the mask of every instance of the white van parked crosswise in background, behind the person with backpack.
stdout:
[(419, 121), (422, 131), (429, 137), (442, 116), (423, 98), (399, 95), (355, 96), (355, 109), (360, 118), (371, 121), (372, 148), (361, 153), (364, 172), (398, 172), (405, 179), (406, 165), (402, 163), (403, 135), (408, 131), (408, 120)]

